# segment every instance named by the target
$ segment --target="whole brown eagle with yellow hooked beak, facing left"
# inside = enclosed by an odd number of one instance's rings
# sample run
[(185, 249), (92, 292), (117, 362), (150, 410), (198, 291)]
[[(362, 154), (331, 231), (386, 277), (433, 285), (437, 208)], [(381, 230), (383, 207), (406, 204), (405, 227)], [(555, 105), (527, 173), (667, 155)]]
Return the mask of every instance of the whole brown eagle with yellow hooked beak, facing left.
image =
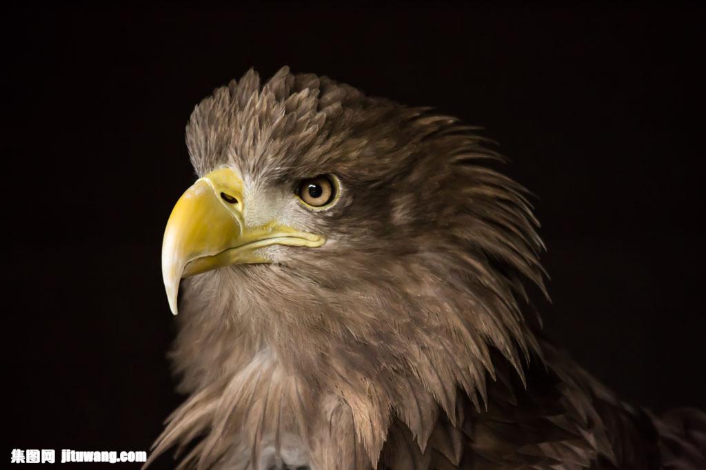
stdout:
[(623, 403), (543, 339), (537, 220), (476, 128), (282, 68), (215, 90), (186, 143), (162, 272), (189, 397), (150, 459), (706, 469), (705, 414)]

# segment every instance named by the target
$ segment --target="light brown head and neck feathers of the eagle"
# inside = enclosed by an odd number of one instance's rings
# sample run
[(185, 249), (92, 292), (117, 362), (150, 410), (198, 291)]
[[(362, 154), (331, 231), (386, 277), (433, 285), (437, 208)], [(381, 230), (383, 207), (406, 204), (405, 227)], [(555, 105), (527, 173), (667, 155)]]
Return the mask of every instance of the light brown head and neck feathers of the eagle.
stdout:
[(172, 356), (192, 395), (155, 454), (198, 436), (189, 462), (245, 468), (299, 442), (318, 468), (368, 469), (393, 420), (424, 449), (459, 393), (483, 406), (491, 350), (522, 376), (539, 347), (520, 301), (524, 282), (544, 291), (543, 245), (527, 191), (486, 166), (502, 157), (476, 131), (288, 68), (198, 104), (197, 174), (334, 173), (345, 199), (316, 221), (325, 246), (185, 282)]

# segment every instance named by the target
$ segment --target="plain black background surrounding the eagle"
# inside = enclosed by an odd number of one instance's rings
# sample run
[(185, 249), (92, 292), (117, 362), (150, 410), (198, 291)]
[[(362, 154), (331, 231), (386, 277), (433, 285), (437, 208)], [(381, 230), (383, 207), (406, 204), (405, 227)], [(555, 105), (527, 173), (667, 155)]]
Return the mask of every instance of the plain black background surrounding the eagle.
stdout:
[(162, 230), (191, 109), (251, 66), (484, 126), (537, 195), (547, 335), (630, 402), (706, 406), (704, 13), (6, 12), (4, 448), (147, 450), (181, 401)]

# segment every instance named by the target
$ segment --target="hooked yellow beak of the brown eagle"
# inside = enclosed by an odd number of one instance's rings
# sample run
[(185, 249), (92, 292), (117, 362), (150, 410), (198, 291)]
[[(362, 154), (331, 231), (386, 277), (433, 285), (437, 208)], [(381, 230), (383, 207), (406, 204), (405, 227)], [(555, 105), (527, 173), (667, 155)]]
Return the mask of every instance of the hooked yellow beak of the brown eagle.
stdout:
[(321, 246), (322, 236), (275, 221), (245, 223), (243, 182), (232, 169), (213, 171), (187, 189), (174, 205), (162, 241), (162, 278), (172, 313), (177, 315), (179, 281), (219, 267), (271, 263), (258, 248), (270, 245)]

